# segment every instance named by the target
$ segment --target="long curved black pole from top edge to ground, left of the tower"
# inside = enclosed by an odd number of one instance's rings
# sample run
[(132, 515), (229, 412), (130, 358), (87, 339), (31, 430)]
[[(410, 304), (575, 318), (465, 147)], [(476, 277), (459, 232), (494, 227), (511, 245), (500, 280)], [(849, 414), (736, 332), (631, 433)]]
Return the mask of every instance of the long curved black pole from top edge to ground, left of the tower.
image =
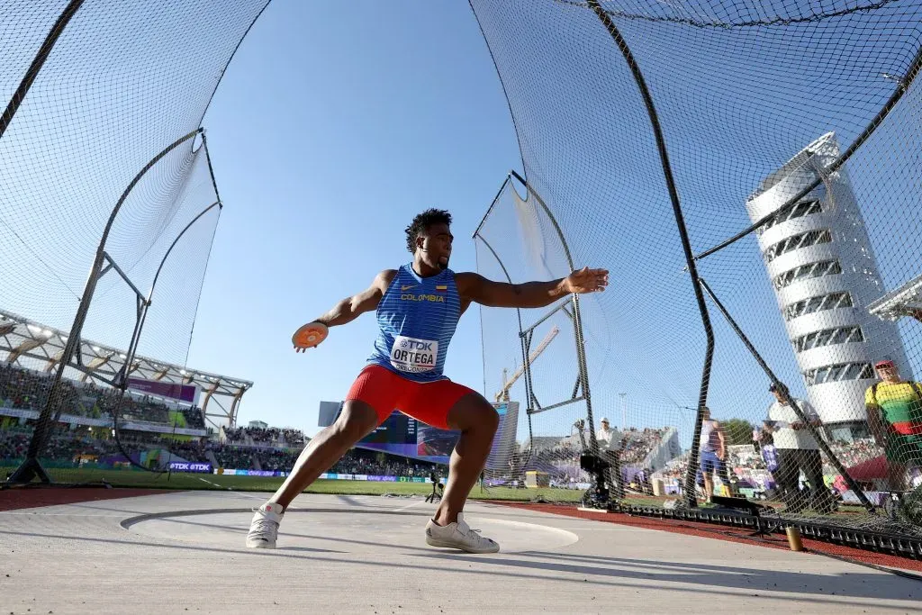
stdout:
[(689, 459), (689, 467), (685, 474), (685, 501), (689, 507), (693, 508), (698, 505), (694, 491), (695, 471), (693, 468), (698, 466), (698, 446), (701, 443), (703, 410), (707, 406), (707, 392), (711, 380), (711, 364), (714, 359), (714, 329), (711, 326), (711, 317), (707, 312), (707, 304), (704, 302), (704, 295), (702, 293), (701, 287), (697, 283), (698, 270), (695, 266), (694, 253), (691, 251), (691, 240), (689, 239), (688, 227), (685, 225), (685, 218), (682, 214), (679, 191), (676, 188), (675, 178), (672, 174), (672, 167), (669, 164), (669, 155), (666, 148), (666, 138), (663, 136), (663, 130), (659, 124), (659, 118), (656, 114), (656, 106), (653, 104), (653, 96), (650, 94), (650, 90), (646, 87), (644, 74), (640, 70), (640, 65), (637, 64), (636, 59), (633, 57), (631, 48), (628, 46), (627, 41), (624, 40), (624, 37), (621, 36), (621, 32), (615, 26), (615, 23), (611, 20), (609, 14), (605, 11), (604, 8), (602, 8), (601, 5), (599, 5), (598, 0), (588, 0), (587, 5), (596, 14), (599, 21), (602, 22), (602, 25), (605, 26), (605, 29), (608, 30), (612, 40), (615, 41), (615, 44), (621, 51), (621, 55), (624, 57), (624, 61), (631, 69), (631, 74), (633, 76), (634, 82), (637, 84), (637, 89), (640, 91), (640, 95), (644, 99), (646, 112), (650, 117), (650, 124), (653, 126), (653, 134), (656, 138), (656, 149), (659, 152), (659, 161), (663, 167), (663, 175), (666, 179), (666, 185), (669, 192), (669, 200), (672, 203), (672, 211), (676, 218), (676, 225), (679, 227), (679, 237), (682, 243), (682, 252), (685, 254), (685, 263), (688, 267), (689, 274), (691, 275), (691, 286), (694, 290), (695, 301), (698, 303), (698, 311), (701, 313), (704, 335), (707, 338), (707, 347), (704, 351), (704, 365), (701, 376), (701, 388), (698, 392), (698, 412), (695, 416), (694, 432), (691, 436), (691, 455)]

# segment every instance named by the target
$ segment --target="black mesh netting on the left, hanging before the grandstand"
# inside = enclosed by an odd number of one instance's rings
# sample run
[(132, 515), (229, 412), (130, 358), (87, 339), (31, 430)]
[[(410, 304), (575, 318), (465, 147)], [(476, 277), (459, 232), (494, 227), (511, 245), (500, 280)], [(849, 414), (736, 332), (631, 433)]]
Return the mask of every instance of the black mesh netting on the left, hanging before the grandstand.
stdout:
[[(220, 212), (200, 124), (266, 4), (0, 8), (7, 471), (30, 455), (65, 480), (112, 480), (113, 467), (161, 468), (172, 456), (207, 461), (195, 403), (211, 388), (232, 396), (249, 386), (183, 368)], [(123, 395), (128, 378), (148, 384)], [(183, 384), (197, 385), (198, 399), (171, 400)], [(124, 477), (115, 481), (145, 480)]]

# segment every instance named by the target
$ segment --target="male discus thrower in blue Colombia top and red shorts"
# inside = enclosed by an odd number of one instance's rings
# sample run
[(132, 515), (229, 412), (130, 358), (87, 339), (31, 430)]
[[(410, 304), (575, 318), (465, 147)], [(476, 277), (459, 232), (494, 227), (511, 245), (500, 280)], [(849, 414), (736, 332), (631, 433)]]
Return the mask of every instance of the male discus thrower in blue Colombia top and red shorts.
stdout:
[(471, 553), (500, 550), (496, 542), (471, 529), (461, 512), (486, 464), (499, 417), (483, 396), (442, 373), (458, 318), (472, 302), (540, 308), (572, 293), (605, 290), (609, 272), (584, 268), (567, 278), (525, 284), (455, 273), (448, 268), (454, 240), (451, 222), (447, 211), (421, 213), (407, 228), (413, 262), (382, 271), (368, 290), (338, 302), (315, 321), (345, 325), (376, 310), (380, 331), (339, 418), (304, 447), (288, 479), (254, 514), (247, 547), (275, 548), (278, 524), (295, 496), (398, 409), (432, 427), (461, 432), (442, 501), (426, 525), (426, 542)]

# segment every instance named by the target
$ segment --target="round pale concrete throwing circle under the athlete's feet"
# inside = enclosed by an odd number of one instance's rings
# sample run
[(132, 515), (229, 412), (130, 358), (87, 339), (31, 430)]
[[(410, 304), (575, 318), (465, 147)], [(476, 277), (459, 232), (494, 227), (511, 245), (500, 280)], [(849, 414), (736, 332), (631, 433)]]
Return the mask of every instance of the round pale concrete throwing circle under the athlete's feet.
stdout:
[[(423, 534), (429, 513), (386, 510), (290, 509), (278, 530), (277, 550), (313, 550), (336, 553), (376, 553), (393, 550), (436, 549)], [(183, 540), (199, 545), (244, 548), (253, 511), (218, 509), (142, 514), (122, 526), (150, 538)], [(500, 543), (503, 553), (561, 549), (579, 537), (565, 529), (522, 521), (466, 516), (471, 527)]]

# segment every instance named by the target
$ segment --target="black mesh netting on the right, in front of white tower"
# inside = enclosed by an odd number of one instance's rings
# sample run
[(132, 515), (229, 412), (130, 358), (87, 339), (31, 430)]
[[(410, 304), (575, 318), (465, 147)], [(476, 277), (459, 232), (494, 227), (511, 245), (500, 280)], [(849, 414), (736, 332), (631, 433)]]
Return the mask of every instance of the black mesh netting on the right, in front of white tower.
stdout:
[[(678, 433), (685, 451), (621, 455), (633, 483), (622, 503), (685, 503), (686, 477), (702, 502), (707, 474), (715, 493), (762, 499), (777, 514), (887, 526), (922, 464), (922, 395), (896, 380), (871, 393), (878, 361), (912, 381), (922, 358), (922, 4), (471, 6), (529, 195), (558, 220), (574, 266), (611, 271), (583, 314), (595, 418), (622, 434), (656, 432), (650, 451)], [(512, 232), (522, 222), (495, 224)], [(689, 268), (683, 228), (709, 290)], [(731, 319), (794, 406), (769, 409), (772, 377)], [(608, 351), (594, 357), (593, 337), (610, 340)], [(719, 425), (704, 424), (699, 454), (689, 449), (703, 406)], [(570, 422), (560, 415), (548, 435), (566, 441)]]

